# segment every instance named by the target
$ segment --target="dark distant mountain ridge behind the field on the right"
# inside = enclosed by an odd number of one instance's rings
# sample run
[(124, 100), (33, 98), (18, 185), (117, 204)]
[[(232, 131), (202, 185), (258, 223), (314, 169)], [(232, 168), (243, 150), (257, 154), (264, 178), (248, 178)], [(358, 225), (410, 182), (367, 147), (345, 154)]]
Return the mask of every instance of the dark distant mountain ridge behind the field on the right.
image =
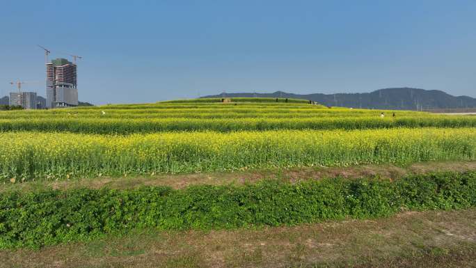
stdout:
[(441, 90), (421, 88), (383, 88), (371, 93), (293, 94), (283, 91), (274, 93), (221, 93), (204, 97), (289, 97), (312, 100), (326, 106), (366, 109), (455, 109), (476, 108), (476, 99), (468, 96), (452, 96)]

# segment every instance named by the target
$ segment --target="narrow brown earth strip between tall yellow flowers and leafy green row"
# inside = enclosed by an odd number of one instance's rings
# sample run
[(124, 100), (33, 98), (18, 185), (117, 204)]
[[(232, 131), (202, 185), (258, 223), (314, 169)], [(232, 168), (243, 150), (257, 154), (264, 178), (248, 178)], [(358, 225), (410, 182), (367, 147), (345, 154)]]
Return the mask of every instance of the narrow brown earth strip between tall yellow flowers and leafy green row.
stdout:
[(15, 184), (1, 184), (0, 191), (7, 189), (54, 188), (70, 189), (88, 187), (98, 189), (109, 187), (111, 189), (127, 189), (141, 186), (169, 186), (175, 189), (184, 188), (195, 184), (243, 184), (256, 182), (263, 179), (283, 180), (295, 182), (299, 180), (319, 180), (322, 178), (365, 178), (380, 176), (381, 178), (395, 179), (411, 173), (428, 173), (436, 171), (475, 171), (476, 161), (447, 161), (425, 162), (409, 166), (395, 166), (392, 164), (361, 165), (349, 167), (302, 167), (302, 168), (276, 168), (267, 170), (235, 171), (229, 173), (194, 173), (175, 175), (149, 175), (142, 177), (122, 178), (85, 178), (60, 181), (25, 182)]

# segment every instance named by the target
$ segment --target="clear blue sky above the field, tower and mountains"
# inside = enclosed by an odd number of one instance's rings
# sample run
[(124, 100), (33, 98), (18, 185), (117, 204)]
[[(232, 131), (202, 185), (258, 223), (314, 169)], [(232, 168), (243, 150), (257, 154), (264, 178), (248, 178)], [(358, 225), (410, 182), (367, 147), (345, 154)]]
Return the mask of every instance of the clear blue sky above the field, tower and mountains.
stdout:
[(40, 44), (84, 56), (79, 100), (95, 104), (397, 86), (476, 97), (475, 0), (0, 3), (0, 95), (45, 80)]

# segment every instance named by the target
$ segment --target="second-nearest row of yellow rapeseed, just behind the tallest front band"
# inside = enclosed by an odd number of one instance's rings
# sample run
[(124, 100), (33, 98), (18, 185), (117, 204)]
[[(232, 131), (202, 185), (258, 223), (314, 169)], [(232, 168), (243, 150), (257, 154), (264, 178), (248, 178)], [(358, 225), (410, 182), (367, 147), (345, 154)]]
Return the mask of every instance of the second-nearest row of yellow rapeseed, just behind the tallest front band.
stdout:
[(18, 118), (0, 119), (0, 132), (39, 131), (134, 134), (173, 131), (232, 132), (276, 129), (381, 129), (394, 127), (476, 127), (472, 116), (379, 116), (316, 118)]

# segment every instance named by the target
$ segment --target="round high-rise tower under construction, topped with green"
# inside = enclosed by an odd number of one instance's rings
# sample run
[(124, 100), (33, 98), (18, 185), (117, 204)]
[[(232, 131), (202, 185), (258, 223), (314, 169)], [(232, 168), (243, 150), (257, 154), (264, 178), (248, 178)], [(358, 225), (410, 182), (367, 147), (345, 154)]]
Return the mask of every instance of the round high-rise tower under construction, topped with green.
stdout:
[(77, 65), (65, 58), (46, 63), (47, 108), (78, 105)]

